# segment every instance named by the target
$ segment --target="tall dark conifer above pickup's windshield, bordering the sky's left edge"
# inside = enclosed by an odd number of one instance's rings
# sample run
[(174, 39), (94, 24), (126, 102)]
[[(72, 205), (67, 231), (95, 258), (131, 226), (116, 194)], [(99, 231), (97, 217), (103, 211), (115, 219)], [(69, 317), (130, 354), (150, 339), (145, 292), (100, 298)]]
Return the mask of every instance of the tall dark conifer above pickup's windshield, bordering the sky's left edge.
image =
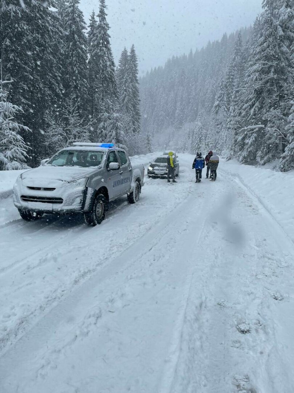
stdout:
[(79, 102), (79, 112), (87, 108), (88, 79), (87, 79), (87, 37), (85, 21), (79, 9), (79, 0), (69, 0), (64, 10), (64, 46), (65, 69), (63, 70), (63, 85), (65, 98), (76, 98)]

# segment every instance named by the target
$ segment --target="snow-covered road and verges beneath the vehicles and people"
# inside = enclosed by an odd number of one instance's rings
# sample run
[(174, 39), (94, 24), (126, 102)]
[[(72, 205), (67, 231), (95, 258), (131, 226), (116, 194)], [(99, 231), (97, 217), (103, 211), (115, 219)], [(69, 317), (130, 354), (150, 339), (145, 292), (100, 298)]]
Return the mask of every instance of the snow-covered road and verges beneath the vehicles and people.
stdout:
[(294, 174), (192, 160), (94, 228), (0, 200), (1, 393), (293, 390)]

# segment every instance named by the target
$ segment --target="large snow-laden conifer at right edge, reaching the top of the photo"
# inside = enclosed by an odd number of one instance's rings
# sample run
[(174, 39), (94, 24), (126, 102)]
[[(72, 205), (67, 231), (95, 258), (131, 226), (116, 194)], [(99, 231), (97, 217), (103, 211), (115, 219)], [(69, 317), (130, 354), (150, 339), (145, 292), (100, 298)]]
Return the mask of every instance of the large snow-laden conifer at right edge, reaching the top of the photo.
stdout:
[[(259, 142), (255, 149), (256, 161), (260, 164), (279, 158), (286, 142), (283, 130), (290, 112), (288, 86), (293, 80), (293, 64), (290, 54), (292, 41), (287, 33), (289, 26), (285, 19), (279, 18), (282, 2), (263, 1), (264, 11), (254, 24), (252, 36), (255, 39), (252, 39), (246, 86), (249, 94), (245, 96), (243, 108), (249, 125), (264, 126), (262, 132), (260, 127), (255, 128), (258, 135), (253, 138)], [(243, 157), (246, 157), (246, 146)]]

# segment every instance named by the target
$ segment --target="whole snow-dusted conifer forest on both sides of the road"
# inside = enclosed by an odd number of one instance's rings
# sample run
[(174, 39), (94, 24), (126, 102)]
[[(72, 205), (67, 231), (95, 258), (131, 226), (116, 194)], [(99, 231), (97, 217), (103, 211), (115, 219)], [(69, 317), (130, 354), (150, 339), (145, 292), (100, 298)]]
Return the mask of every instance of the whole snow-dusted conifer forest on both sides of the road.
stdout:
[(105, 0), (1, 0), (0, 169), (35, 167), (73, 141), (129, 154), (214, 149), (294, 167), (294, 2), (263, 0), (252, 26), (138, 76), (136, 48), (110, 43)]

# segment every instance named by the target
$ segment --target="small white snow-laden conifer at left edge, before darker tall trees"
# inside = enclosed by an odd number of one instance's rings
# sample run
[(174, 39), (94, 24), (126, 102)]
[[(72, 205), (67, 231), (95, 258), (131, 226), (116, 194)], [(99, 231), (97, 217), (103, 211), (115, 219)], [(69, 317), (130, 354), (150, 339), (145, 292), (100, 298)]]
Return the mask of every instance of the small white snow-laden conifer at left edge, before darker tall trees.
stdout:
[(31, 132), (28, 127), (18, 124), (15, 116), (22, 109), (8, 100), (4, 86), (12, 81), (3, 81), (0, 62), (0, 170), (27, 169), (29, 146), (25, 144), (20, 132)]

